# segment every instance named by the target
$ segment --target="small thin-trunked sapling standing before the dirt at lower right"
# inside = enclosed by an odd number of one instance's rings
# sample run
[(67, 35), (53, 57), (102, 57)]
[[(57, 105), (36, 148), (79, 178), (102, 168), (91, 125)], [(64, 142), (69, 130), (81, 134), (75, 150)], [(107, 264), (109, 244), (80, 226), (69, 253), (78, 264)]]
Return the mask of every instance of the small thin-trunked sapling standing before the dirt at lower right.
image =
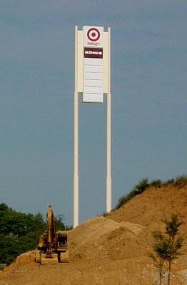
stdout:
[(172, 214), (171, 219), (163, 219), (166, 225), (165, 233), (162, 233), (160, 230), (152, 232), (154, 253), (151, 253), (150, 257), (155, 261), (156, 266), (158, 266), (160, 284), (162, 284), (165, 264), (167, 264), (168, 269), (168, 285), (170, 284), (171, 265), (173, 264), (173, 260), (181, 255), (180, 249), (183, 245), (183, 237), (178, 234), (178, 230), (183, 222), (179, 217), (179, 214)]

